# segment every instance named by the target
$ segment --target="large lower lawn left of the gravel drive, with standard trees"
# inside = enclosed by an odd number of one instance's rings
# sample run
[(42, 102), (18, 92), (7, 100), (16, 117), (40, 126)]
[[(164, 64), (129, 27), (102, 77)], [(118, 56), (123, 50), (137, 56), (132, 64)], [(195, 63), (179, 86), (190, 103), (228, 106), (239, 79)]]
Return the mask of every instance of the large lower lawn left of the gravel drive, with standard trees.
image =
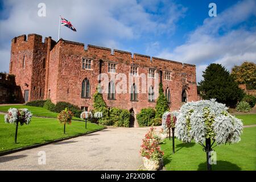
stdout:
[(103, 127), (94, 123), (87, 123), (85, 130), (84, 122), (72, 121), (71, 125), (66, 125), (66, 134), (63, 134), (63, 126), (54, 118), (32, 117), (30, 125), (18, 127), (17, 144), (15, 144), (15, 125), (5, 123), (4, 115), (0, 114), (0, 152), (67, 138)]

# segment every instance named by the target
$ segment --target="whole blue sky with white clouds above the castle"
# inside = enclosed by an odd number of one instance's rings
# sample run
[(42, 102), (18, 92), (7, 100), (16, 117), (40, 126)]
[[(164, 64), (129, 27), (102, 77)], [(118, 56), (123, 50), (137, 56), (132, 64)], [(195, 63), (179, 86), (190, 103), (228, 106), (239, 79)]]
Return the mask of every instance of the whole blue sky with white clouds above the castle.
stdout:
[[(45, 3), (46, 16), (38, 16)], [(217, 17), (209, 17), (209, 3)], [(209, 63), (230, 70), (256, 63), (256, 0), (0, 1), (0, 71), (8, 72), (10, 40), (36, 33), (57, 39), (59, 15), (77, 32), (61, 38), (195, 64), (197, 81)]]

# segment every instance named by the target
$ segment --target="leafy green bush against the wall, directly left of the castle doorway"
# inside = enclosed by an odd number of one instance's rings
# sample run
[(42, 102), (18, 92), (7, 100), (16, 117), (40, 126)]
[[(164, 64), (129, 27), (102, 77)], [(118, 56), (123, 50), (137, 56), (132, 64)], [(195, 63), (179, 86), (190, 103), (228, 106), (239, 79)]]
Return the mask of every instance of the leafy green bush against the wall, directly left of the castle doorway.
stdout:
[(114, 126), (129, 127), (130, 113), (126, 109), (112, 107), (109, 110), (109, 119), (114, 123)]

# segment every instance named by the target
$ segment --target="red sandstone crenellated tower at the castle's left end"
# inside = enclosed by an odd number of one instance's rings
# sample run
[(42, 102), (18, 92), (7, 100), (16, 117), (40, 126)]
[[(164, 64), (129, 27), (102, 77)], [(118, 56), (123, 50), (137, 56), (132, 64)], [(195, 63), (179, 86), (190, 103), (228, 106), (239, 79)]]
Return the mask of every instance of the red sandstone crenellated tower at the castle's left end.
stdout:
[(43, 43), (42, 36), (37, 34), (28, 34), (28, 38), (20, 35), (11, 40), (9, 73), (15, 75), (25, 102), (44, 98), (47, 49), (51, 48), (51, 42), (51, 38), (46, 38)]

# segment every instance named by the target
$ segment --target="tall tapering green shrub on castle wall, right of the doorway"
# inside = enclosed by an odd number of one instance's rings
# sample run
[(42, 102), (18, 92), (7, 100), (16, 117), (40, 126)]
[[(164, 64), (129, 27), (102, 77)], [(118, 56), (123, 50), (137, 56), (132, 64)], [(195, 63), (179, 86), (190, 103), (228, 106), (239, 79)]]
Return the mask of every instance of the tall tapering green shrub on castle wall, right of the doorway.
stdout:
[(162, 83), (159, 84), (159, 96), (156, 101), (155, 110), (155, 118), (162, 118), (163, 113), (169, 110), (168, 100), (166, 96), (164, 96)]

